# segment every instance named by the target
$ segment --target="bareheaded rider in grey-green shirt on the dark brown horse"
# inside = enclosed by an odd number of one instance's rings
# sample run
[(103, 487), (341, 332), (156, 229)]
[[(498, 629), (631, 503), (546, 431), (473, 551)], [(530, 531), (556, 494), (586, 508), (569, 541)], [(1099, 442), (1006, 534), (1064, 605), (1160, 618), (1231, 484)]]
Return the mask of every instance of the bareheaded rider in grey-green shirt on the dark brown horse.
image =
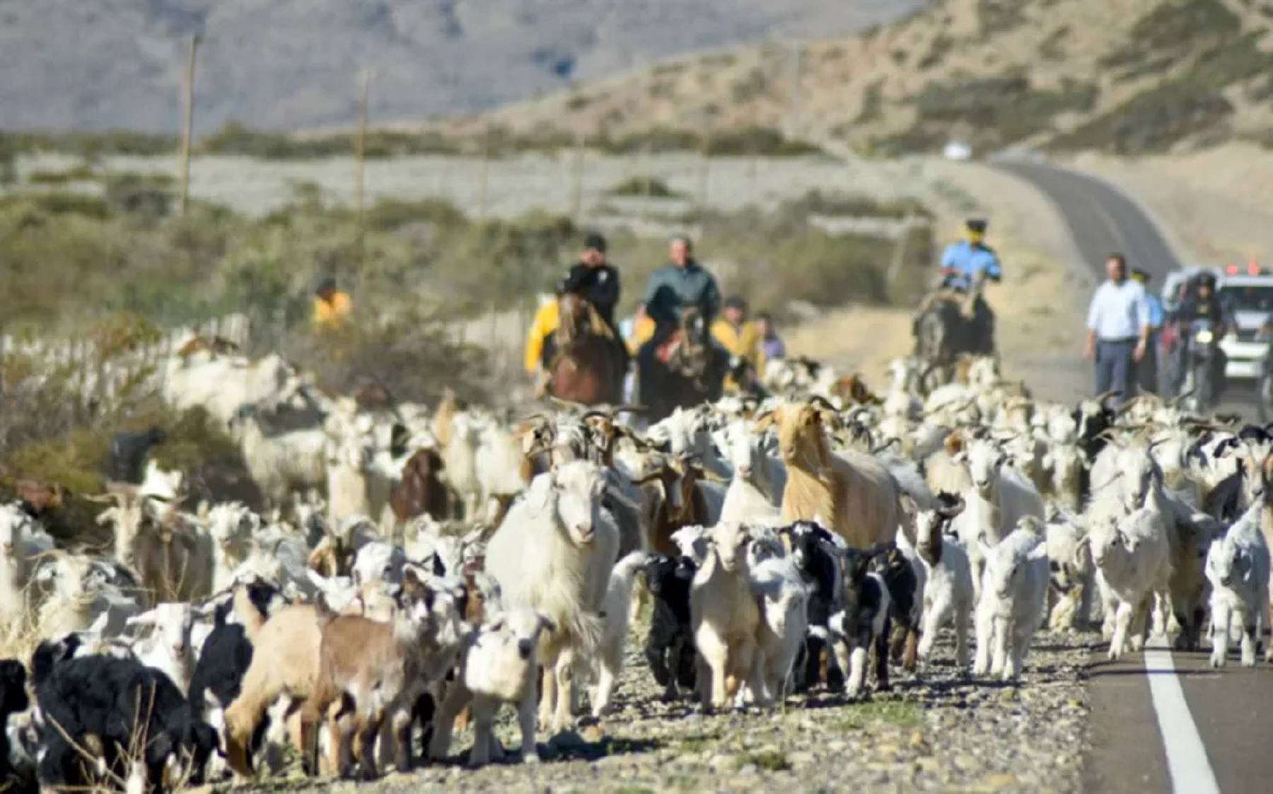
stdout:
[[(710, 328), (721, 312), (721, 288), (715, 277), (694, 258), (694, 243), (679, 234), (668, 246), (668, 263), (663, 265), (645, 282), (645, 316), (654, 323), (653, 335), (636, 354), (638, 364), (651, 361), (659, 347), (680, 328), (681, 309), (698, 307), (705, 328)], [(710, 335), (710, 344), (724, 350)]]

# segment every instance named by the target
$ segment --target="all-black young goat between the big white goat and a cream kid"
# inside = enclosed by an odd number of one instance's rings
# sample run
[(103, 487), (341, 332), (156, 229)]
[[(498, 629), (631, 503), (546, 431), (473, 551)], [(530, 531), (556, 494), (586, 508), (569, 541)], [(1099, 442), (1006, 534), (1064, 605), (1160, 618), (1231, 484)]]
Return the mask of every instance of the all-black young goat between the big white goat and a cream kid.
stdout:
[(645, 637), (645, 660), (654, 681), (663, 687), (663, 700), (693, 691), (696, 679), (694, 630), (690, 623), (690, 583), (698, 566), (689, 557), (680, 560), (656, 555), (640, 569), (645, 587), (654, 597), (654, 611)]

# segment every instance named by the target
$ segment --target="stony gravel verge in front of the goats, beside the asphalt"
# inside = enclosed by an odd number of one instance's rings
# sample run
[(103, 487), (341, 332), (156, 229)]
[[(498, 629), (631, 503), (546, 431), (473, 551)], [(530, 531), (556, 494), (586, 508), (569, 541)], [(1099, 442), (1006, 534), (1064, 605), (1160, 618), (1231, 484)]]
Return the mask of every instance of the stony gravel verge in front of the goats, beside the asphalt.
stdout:
[[(461, 732), (447, 765), (374, 784), (292, 777), (260, 790), (1081, 790), (1090, 637), (1040, 634), (1022, 682), (1009, 686), (956, 674), (947, 635), (927, 674), (894, 668), (894, 690), (866, 701), (819, 690), (784, 710), (703, 716), (687, 701), (659, 702), (634, 634), (615, 714), (551, 741), (541, 732), (537, 766), (465, 769), (471, 733)], [(518, 746), (509, 709), (498, 734)]]

